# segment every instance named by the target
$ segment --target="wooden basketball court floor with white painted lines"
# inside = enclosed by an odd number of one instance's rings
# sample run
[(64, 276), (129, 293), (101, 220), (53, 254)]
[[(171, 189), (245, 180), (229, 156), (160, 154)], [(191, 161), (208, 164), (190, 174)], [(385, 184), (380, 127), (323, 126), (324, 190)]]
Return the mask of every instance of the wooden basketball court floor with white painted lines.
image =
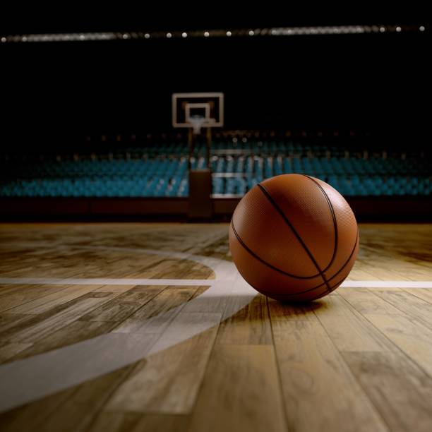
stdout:
[(432, 431), (432, 225), (362, 224), (350, 287), (303, 306), (227, 230), (1, 224), (0, 430)]

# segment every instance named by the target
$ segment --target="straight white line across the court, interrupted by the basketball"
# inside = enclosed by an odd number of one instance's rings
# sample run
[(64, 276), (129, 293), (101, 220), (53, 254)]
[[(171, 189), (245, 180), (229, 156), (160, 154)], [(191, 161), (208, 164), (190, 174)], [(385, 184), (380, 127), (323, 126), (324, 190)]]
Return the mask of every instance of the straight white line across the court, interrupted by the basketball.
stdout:
[[(221, 282), (222, 278), (217, 279)], [(215, 279), (133, 279), (133, 278), (79, 278), (79, 277), (0, 277), (0, 284), (35, 285), (174, 285), (211, 286)], [(346, 280), (344, 288), (432, 288), (432, 281), (411, 280)]]

